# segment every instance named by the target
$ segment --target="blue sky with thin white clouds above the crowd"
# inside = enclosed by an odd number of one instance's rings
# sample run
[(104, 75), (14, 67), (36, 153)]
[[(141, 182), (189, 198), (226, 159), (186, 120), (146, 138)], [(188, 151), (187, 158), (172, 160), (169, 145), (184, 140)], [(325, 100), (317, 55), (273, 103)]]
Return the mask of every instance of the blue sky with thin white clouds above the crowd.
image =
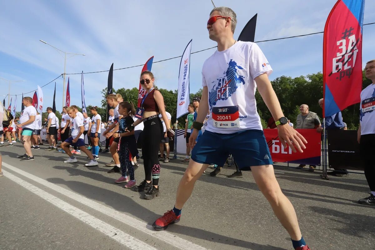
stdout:
[[(258, 13), (255, 40), (323, 31), (336, 0), (214, 0), (237, 14), (237, 39), (246, 22)], [(63, 73), (64, 58), (44, 40), (66, 52), (86, 54), (69, 58), (66, 73), (108, 70), (181, 55), (190, 39), (192, 52), (216, 45), (208, 39), (211, 0), (129, 1), (65, 0), (3, 1), (0, 9), (0, 77), (23, 80), (11, 84), (10, 94), (35, 90)], [(367, 0), (364, 23), (375, 22), (375, 1)], [(375, 25), (363, 27), (363, 65), (374, 59)], [(323, 34), (261, 42), (278, 76), (300, 76), (322, 71)], [(201, 67), (214, 49), (191, 55), (190, 93), (201, 88)], [(159, 88), (177, 89), (180, 58), (155, 63), (152, 71)], [(113, 87), (138, 87), (141, 67), (115, 70)], [(86, 105), (100, 105), (100, 91), (108, 72), (84, 75)], [(68, 79), (67, 79), (68, 81)], [(70, 75), (71, 105), (81, 103), (81, 75)], [(56, 106), (62, 107), (63, 79), (56, 80)], [(8, 83), (0, 80), (0, 99)], [(54, 84), (43, 87), (43, 108), (52, 106)], [(32, 96), (31, 94), (28, 94)], [(14, 96), (13, 96), (14, 99)], [(13, 100), (14, 103), (14, 100)], [(7, 104), (7, 99), (6, 99)], [(13, 105), (12, 105), (13, 106)], [(21, 98), (18, 97), (17, 111)]]

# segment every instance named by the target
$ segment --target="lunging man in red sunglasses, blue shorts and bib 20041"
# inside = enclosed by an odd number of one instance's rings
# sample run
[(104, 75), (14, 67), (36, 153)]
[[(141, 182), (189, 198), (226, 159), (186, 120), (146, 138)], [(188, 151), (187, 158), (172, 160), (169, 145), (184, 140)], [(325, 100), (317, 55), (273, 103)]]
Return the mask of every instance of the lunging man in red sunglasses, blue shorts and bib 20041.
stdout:
[[(288, 119), (284, 117), (268, 78), (272, 68), (261, 49), (255, 43), (233, 39), (236, 23), (236, 14), (228, 7), (217, 7), (210, 13), (207, 30), (210, 39), (217, 42), (217, 51), (202, 67), (202, 99), (189, 139), (192, 157), (180, 181), (175, 207), (157, 219), (153, 227), (160, 231), (178, 222), (195, 181), (208, 164), (222, 166), (227, 156), (232, 154), (239, 168), (251, 166), (255, 182), (289, 232), (294, 249), (308, 250), (294, 208), (282, 193), (274, 174), (271, 154), (257, 113), (257, 87), (275, 118), (283, 144), (287, 141), (294, 152), (296, 148), (302, 152), (301, 147), (305, 148), (307, 141), (287, 124)], [(195, 144), (208, 111), (211, 115), (207, 127)]]

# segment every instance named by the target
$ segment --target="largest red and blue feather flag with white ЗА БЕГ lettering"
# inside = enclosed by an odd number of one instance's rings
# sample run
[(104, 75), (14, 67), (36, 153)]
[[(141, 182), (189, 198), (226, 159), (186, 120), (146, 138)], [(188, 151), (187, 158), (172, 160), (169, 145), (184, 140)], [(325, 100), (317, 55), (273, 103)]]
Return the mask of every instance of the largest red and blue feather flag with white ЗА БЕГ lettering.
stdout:
[(323, 117), (360, 102), (365, 0), (338, 0), (323, 37)]

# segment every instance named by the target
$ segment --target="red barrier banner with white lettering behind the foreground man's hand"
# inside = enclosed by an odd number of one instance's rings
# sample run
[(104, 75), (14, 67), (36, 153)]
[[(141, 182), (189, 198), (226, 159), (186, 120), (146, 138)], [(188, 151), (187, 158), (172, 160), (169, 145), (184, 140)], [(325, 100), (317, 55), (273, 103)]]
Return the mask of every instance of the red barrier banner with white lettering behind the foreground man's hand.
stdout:
[(293, 162), (308, 165), (320, 165), (321, 134), (315, 129), (297, 129), (305, 137), (306, 149), (303, 153), (294, 153), (287, 144), (285, 148), (280, 141), (277, 129), (264, 129), (264, 135), (274, 162)]

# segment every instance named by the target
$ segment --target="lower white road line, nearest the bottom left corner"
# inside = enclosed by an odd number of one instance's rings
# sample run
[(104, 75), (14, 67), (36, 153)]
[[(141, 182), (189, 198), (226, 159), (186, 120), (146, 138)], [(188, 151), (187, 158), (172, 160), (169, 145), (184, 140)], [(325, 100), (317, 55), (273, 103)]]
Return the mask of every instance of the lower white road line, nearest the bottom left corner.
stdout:
[(9, 172), (3, 170), (4, 176), (9, 178), (10, 180), (14, 181), (17, 184), (20, 184), (22, 187), (26, 188), (30, 192), (33, 192), (37, 196), (45, 199), (46, 201), (50, 202), (51, 204), (55, 205), (56, 207), (62, 209), (66, 213), (71, 214), (72, 216), (76, 217), (77, 219), (83, 221), (84, 223), (92, 226), (93, 228), (99, 230), (100, 232), (108, 235), (110, 238), (114, 239), (118, 243), (123, 244), (124, 246), (133, 249), (133, 250), (156, 250), (156, 248), (151, 247), (150, 245), (130, 236), (129, 234), (124, 233), (123, 231), (114, 228), (113, 226), (102, 222), (101, 220), (91, 216), (90, 214), (73, 207), (72, 205), (68, 204), (67, 202), (53, 196), (39, 187), (34, 186), (33, 184), (24, 181), (17, 176), (10, 174)]

